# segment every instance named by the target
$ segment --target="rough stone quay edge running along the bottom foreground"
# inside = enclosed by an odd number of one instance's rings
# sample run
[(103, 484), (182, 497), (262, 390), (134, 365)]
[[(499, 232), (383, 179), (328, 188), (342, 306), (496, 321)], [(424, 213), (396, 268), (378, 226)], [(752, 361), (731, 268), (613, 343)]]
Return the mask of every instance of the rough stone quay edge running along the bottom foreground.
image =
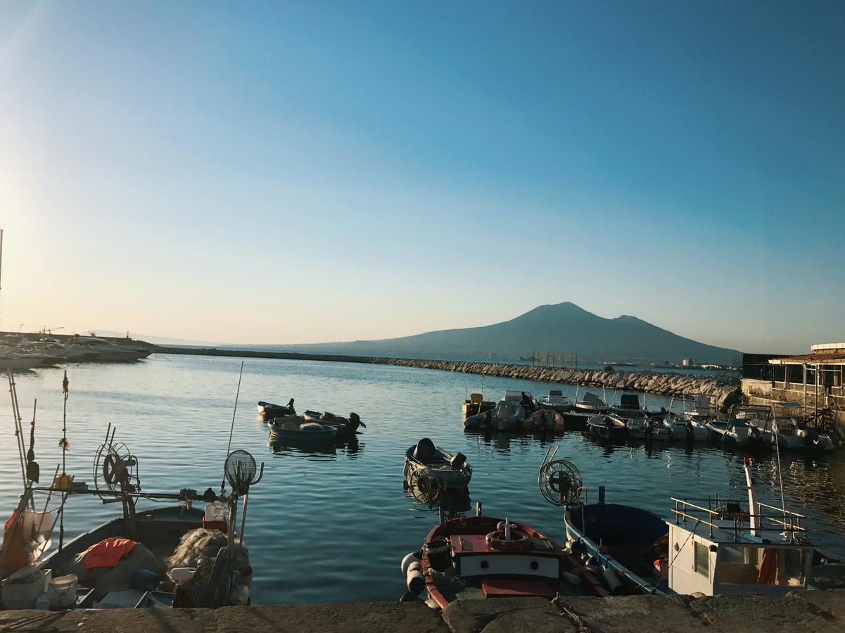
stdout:
[(501, 598), (451, 604), (437, 613), (421, 602), (255, 605), (210, 609), (0, 611), (0, 631), (342, 631), (343, 633), (653, 633), (654, 631), (845, 631), (845, 589), (785, 598), (630, 596)]

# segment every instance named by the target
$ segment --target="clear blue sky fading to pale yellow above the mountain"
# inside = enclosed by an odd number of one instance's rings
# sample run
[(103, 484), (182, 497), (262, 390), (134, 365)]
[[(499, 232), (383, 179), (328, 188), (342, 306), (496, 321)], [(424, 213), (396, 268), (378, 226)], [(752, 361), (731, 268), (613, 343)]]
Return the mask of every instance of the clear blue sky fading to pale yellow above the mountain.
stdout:
[(845, 3), (0, 5), (3, 329), (309, 342), (570, 300), (845, 339)]

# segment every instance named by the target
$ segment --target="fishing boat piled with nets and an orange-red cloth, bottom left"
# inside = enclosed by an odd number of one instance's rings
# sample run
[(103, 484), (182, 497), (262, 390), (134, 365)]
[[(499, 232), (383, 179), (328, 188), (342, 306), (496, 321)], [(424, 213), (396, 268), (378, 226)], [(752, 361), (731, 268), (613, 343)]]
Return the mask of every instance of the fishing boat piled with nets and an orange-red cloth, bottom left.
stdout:
[[(232, 487), (227, 494), (223, 487), (219, 494), (212, 488), (202, 494), (189, 488), (177, 494), (142, 491), (139, 459), (114, 441), (111, 424), (106, 442), (96, 451), (90, 487), (67, 474), (55, 476), (49, 486), (36, 486), (38, 468), (31, 450), (27, 461), (24, 494), (6, 523), (0, 555), (5, 608), (217, 608), (248, 603), (252, 568), (243, 545), (246, 499), (249, 486), (264, 472), (263, 464), (257, 472), (248, 452), (234, 450), (226, 457), (224, 478)], [(44, 511), (35, 510), (41, 507), (37, 494), (46, 496)], [(58, 547), (52, 550), (58, 522), (52, 512), (64, 516), (65, 505), (80, 494), (121, 503), (123, 516), (68, 543), (63, 542), (62, 526)], [(240, 498), (243, 515), (237, 530)], [(139, 499), (183, 505), (136, 510)], [(51, 500), (58, 505), (53, 510)], [(204, 510), (193, 508), (194, 502), (205, 502)]]

